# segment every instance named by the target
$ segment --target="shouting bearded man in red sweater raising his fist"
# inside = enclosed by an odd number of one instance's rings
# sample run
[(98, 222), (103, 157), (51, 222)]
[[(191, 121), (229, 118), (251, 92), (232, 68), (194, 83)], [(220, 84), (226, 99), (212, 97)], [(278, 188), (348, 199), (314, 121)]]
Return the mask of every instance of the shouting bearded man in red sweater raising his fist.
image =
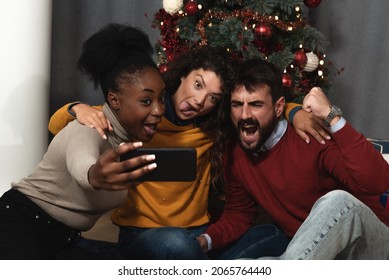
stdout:
[(228, 108), (235, 138), (225, 160), (225, 210), (200, 245), (215, 250), (241, 238), (260, 205), (291, 239), (280, 259), (387, 259), (389, 216), (379, 196), (389, 188), (388, 163), (320, 88), (302, 108), (331, 140), (301, 141), (282, 117), (281, 77), (260, 59), (240, 66)]

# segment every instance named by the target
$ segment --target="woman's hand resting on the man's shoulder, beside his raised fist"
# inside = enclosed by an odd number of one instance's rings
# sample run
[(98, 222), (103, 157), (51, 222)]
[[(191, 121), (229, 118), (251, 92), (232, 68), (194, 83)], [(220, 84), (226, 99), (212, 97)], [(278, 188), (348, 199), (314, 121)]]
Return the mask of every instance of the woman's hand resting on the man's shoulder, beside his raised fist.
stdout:
[(331, 139), (323, 126), (323, 121), (306, 110), (298, 110), (296, 112), (293, 118), (293, 127), (297, 134), (307, 143), (311, 141), (308, 134), (321, 144), (325, 144), (325, 140)]

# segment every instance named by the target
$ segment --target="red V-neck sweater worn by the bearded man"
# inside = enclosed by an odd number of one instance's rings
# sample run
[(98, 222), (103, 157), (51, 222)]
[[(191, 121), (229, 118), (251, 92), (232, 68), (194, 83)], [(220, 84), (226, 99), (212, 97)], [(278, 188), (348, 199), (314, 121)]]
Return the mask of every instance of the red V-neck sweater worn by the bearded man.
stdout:
[(291, 237), (316, 200), (335, 189), (352, 193), (389, 225), (379, 202), (379, 195), (389, 189), (389, 165), (348, 123), (325, 145), (306, 144), (288, 124), (281, 140), (258, 156), (235, 145), (226, 157), (226, 169), (225, 210), (207, 230), (214, 249), (253, 225), (258, 203)]

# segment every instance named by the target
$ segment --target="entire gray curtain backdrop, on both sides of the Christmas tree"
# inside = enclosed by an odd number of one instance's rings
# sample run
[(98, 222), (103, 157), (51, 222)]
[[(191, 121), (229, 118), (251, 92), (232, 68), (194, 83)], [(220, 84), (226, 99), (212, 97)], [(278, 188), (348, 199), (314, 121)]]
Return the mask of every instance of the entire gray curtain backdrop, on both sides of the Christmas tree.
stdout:
[[(85, 39), (118, 22), (142, 28), (156, 42), (159, 30), (151, 21), (161, 7), (162, 0), (53, 0), (50, 114), (69, 101), (103, 102), (102, 94), (76, 70)], [(309, 13), (311, 24), (330, 42), (327, 60), (344, 67), (331, 78), (331, 100), (366, 137), (381, 139), (389, 139), (387, 11), (385, 0), (323, 0)]]

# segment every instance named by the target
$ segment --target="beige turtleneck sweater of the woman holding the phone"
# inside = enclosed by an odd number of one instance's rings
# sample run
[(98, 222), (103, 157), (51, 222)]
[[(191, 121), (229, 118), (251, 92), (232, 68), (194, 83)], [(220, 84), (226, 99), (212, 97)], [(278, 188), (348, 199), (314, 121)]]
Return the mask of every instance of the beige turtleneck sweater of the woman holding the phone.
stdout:
[(127, 141), (126, 132), (105, 104), (114, 127), (108, 140), (77, 120), (69, 123), (50, 143), (35, 171), (12, 188), (28, 196), (56, 220), (76, 230), (89, 230), (108, 210), (120, 206), (127, 191), (94, 189), (88, 170), (105, 150)]

